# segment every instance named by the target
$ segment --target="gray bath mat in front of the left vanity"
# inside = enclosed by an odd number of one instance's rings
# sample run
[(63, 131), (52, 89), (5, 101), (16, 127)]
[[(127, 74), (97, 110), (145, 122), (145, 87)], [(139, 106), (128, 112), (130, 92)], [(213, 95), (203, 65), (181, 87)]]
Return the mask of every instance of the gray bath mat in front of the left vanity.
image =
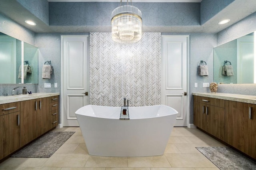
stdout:
[(50, 158), (74, 132), (48, 132), (11, 157)]

